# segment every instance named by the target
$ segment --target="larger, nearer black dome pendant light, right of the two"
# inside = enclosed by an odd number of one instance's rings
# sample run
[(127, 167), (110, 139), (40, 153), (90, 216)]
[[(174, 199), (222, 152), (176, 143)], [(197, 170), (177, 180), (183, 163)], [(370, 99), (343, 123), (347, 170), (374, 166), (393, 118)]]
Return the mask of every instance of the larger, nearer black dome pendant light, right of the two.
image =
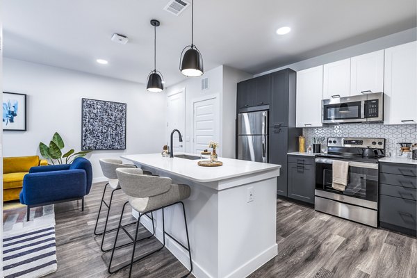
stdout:
[[(193, 43), (194, 0), (191, 0), (191, 45), (184, 47), (181, 52), (179, 70), (185, 76), (196, 77), (204, 74), (203, 57)], [(184, 51), (186, 53), (184, 54)]]

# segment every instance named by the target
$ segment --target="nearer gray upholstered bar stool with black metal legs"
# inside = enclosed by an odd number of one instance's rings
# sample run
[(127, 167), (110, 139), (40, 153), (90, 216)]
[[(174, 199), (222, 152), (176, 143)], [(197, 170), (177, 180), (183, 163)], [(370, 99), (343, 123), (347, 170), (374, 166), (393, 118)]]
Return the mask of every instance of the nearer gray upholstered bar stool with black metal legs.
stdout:
[[(193, 261), (191, 259), (191, 251), (190, 251), (190, 239), (188, 237), (188, 227), (187, 227), (187, 218), (186, 218), (186, 209), (183, 204), (183, 200), (190, 197), (190, 186), (186, 186), (185, 184), (172, 184), (172, 180), (167, 177), (150, 177), (143, 175), (141, 169), (130, 169), (130, 168), (118, 168), (116, 170), (117, 177), (120, 181), (120, 186), (124, 194), (128, 196), (128, 202), (124, 203), (122, 208), (122, 214), (120, 215), (119, 226), (117, 227), (117, 233), (115, 238), (115, 243), (113, 245), (113, 250), (111, 252), (111, 259), (110, 263), (108, 264), (108, 272), (113, 274), (123, 268), (130, 266), (129, 270), (129, 277), (131, 277), (133, 263), (144, 259), (145, 257), (158, 252), (165, 247), (165, 234), (172, 238), (176, 243), (178, 243), (184, 250), (188, 251), (188, 255), (190, 256), (190, 271), (184, 275), (183, 277), (188, 277), (190, 273), (193, 271)], [(131, 236), (124, 226), (122, 226), (122, 217), (123, 211), (126, 204), (130, 204), (133, 209), (139, 212), (138, 222), (136, 223), (136, 232), (134, 236)], [(168, 234), (165, 231), (165, 215), (164, 215), (164, 208), (168, 206), (173, 206), (175, 204), (181, 204), (183, 215), (184, 215), (184, 223), (186, 227), (186, 236), (187, 236), (187, 247), (179, 242), (176, 238), (172, 235)], [(163, 229), (163, 245), (159, 247), (157, 250), (149, 252), (143, 256), (140, 256), (138, 259), (135, 258), (135, 248), (136, 243), (140, 240), (144, 240), (146, 238), (141, 238), (138, 240), (138, 229), (140, 224), (140, 218), (145, 213), (152, 213), (154, 211), (158, 211), (162, 209), (162, 229)], [(116, 270), (111, 269), (111, 263), (113, 261), (113, 256), (115, 254), (115, 250), (119, 249), (120, 247), (124, 246), (116, 246), (117, 245), (117, 237), (119, 236), (120, 229), (126, 233), (127, 236), (131, 239), (133, 243), (133, 250), (132, 250), (132, 257), (130, 263), (123, 265)]]

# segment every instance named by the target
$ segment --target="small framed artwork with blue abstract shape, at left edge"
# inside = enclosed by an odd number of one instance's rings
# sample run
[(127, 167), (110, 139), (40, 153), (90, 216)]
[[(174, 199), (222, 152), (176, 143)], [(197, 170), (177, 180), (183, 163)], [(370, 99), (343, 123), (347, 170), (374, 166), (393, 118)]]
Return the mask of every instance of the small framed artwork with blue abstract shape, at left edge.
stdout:
[(26, 131), (26, 95), (3, 92), (3, 131)]

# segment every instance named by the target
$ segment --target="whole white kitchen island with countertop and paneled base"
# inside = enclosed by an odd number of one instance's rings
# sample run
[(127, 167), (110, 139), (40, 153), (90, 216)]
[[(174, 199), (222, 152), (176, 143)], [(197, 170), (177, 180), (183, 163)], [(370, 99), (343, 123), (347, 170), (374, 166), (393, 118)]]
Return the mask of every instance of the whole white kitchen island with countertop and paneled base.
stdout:
[[(219, 158), (220, 167), (161, 154), (122, 158), (173, 183), (187, 184), (184, 201), (190, 234), (193, 275), (197, 278), (246, 277), (277, 255), (277, 177), (280, 165)], [(138, 213), (133, 211), (138, 218)], [(154, 213), (156, 237), (162, 240), (162, 213)], [(140, 220), (149, 230), (152, 222)], [(165, 230), (186, 243), (180, 206), (165, 208)], [(166, 247), (190, 268), (188, 252), (165, 236)]]

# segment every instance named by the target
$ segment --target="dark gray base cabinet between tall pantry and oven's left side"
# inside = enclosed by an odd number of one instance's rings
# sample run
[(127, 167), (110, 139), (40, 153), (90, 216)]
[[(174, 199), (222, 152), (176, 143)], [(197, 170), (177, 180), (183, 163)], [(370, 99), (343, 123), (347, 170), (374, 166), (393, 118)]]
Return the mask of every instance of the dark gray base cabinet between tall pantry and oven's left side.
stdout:
[(297, 157), (297, 163), (292, 163), (288, 159), (288, 197), (314, 204), (316, 167), (306, 164), (307, 161)]

